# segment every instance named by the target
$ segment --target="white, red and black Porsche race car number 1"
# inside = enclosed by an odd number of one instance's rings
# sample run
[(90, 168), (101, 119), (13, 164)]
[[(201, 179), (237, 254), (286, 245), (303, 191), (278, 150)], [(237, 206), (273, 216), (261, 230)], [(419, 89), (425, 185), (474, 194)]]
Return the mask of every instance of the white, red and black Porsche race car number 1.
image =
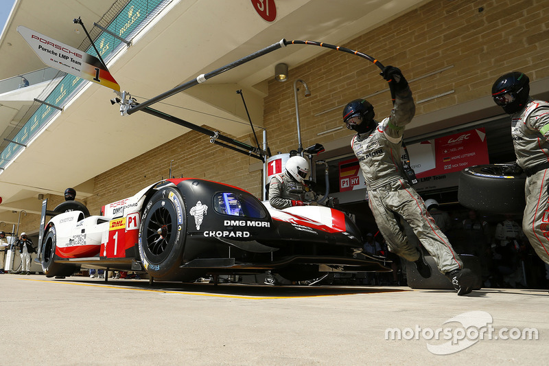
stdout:
[[(79, 206), (80, 205), (80, 206)], [(47, 216), (53, 216), (45, 223)], [(300, 281), (321, 273), (390, 271), (362, 253), (342, 211), (324, 206), (278, 210), (232, 185), (167, 179), (91, 216), (67, 201), (43, 203), (36, 258), (47, 277), (81, 268), (142, 271), (159, 281), (271, 271)]]

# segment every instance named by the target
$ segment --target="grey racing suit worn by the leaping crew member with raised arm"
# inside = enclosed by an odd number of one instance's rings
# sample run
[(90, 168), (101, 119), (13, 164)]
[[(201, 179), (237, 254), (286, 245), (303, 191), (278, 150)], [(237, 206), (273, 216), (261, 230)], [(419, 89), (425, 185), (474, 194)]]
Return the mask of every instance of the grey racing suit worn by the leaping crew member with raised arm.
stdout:
[(452, 245), (427, 211), (423, 199), (404, 178), (402, 136), (404, 126), (414, 117), (415, 104), (409, 88), (395, 96), (390, 116), (372, 131), (355, 135), (351, 141), (366, 181), (375, 222), (389, 250), (406, 260), (418, 260), (419, 253), (399, 228), (395, 213), (410, 224), (441, 273), (463, 268)]

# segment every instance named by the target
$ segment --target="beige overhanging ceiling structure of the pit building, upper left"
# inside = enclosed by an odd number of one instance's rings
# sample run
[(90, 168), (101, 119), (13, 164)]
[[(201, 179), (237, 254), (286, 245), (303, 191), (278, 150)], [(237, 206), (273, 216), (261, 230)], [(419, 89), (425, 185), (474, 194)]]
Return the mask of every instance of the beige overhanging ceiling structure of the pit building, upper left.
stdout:
[[(274, 0), (277, 17), (268, 23), (250, 0), (174, 0), (108, 67), (121, 89), (143, 101), (281, 38), (341, 44), (426, 2)], [(72, 20), (81, 16), (91, 27), (111, 5), (113, 0), (17, 0), (0, 38), (0, 79), (45, 67), (16, 32), (17, 26), (78, 47), (85, 35)], [(244, 135), (250, 126), (235, 91), (243, 90), (254, 124), (262, 126), (263, 98), (274, 66), (285, 62), (291, 73), (322, 52), (321, 47), (284, 47), (153, 107)], [(44, 84), (0, 94), (1, 130), (14, 125)], [(0, 170), (0, 222), (17, 222), (21, 210), (39, 214), (38, 194), (62, 194), (74, 186), (79, 196), (89, 196), (94, 176), (188, 132), (145, 113), (121, 117), (118, 106), (110, 104), (114, 97), (110, 89), (89, 83), (13, 163)]]

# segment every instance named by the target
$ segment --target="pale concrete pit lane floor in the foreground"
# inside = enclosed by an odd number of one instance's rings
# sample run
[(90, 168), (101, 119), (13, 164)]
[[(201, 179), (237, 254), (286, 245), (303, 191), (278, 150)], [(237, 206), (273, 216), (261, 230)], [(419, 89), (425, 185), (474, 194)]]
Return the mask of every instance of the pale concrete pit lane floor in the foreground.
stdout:
[(549, 293), (0, 275), (3, 365), (517, 365)]

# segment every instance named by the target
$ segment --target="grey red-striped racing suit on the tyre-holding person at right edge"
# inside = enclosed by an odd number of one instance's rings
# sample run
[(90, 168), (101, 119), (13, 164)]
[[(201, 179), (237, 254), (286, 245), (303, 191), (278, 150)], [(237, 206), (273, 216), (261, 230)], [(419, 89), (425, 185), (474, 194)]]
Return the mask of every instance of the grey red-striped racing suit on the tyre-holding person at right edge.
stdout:
[(549, 102), (530, 98), (511, 121), (517, 164), (527, 175), (522, 230), (549, 264)]

